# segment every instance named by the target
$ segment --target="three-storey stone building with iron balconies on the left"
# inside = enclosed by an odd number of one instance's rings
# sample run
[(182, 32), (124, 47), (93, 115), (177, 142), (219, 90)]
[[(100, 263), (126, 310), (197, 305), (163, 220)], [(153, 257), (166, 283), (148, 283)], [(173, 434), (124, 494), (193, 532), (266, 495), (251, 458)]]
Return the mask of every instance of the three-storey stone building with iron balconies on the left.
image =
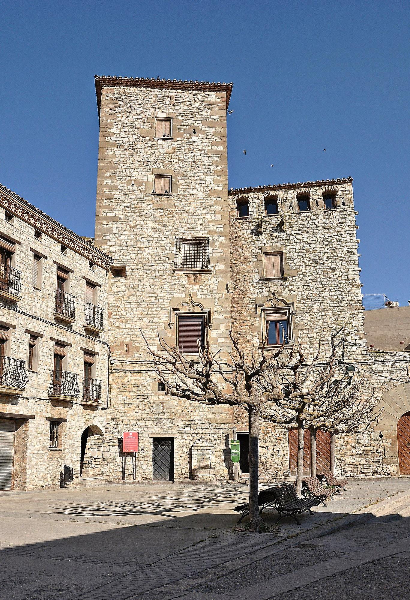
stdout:
[(1, 489), (56, 486), (105, 431), (111, 259), (2, 186), (0, 252)]

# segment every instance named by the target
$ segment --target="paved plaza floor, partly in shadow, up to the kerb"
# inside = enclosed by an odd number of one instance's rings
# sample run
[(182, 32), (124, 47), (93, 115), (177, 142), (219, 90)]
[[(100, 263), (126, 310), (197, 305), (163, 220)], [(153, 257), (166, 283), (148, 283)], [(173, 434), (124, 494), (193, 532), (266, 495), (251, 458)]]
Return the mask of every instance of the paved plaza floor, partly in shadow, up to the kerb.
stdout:
[[(269, 560), (278, 544), (295, 544), (307, 534), (314, 538), (326, 524), (363, 509), (371, 512), (366, 507), (408, 488), (406, 478), (352, 480), (346, 492), (316, 507), (313, 517), (302, 515), (301, 527), (283, 519), (272, 533), (234, 531), (233, 508), (248, 494), (241, 484), (1, 493), (0, 599), (177, 597), (186, 587), (180, 581), (191, 579), (194, 590), (195, 581), (218, 569), (243, 565), (245, 574), (252, 553)], [(264, 518), (275, 523), (276, 511), (264, 511)]]

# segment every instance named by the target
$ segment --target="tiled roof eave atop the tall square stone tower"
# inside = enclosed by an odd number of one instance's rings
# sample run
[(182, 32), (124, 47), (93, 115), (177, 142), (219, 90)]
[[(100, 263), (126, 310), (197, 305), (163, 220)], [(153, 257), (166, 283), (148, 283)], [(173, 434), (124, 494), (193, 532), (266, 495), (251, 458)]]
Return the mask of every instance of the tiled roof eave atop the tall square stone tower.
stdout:
[(183, 81), (177, 79), (144, 79), (143, 77), (105, 77), (95, 75), (95, 93), (97, 94), (98, 116), (101, 110), (101, 90), (105, 86), (123, 86), (134, 88), (190, 89), (204, 92), (225, 92), (227, 110), (231, 98), (233, 83), (209, 81)]

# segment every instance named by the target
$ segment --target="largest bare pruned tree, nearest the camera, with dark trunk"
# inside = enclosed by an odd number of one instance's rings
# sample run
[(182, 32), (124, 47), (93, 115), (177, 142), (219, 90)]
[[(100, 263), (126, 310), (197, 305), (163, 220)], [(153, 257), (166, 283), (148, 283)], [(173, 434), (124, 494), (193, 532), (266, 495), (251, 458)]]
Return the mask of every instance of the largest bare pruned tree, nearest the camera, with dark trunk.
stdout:
[[(263, 526), (258, 507), (259, 431), (260, 415), (264, 404), (283, 400), (290, 390), (282, 386), (284, 373), (293, 363), (294, 348), (284, 350), (284, 344), (275, 352), (266, 353), (266, 341), (258, 352), (245, 355), (237, 337), (230, 332), (233, 352), (228, 361), (219, 359), (218, 352), (210, 351), (209, 341), (204, 347), (198, 341), (198, 356), (185, 356), (174, 346), (159, 338), (160, 350), (153, 350), (143, 332), (141, 335), (152, 356), (153, 365), (165, 391), (176, 398), (213, 406), (228, 404), (241, 406), (249, 415), (249, 517), (255, 530)], [(299, 359), (304, 360), (302, 353)], [(277, 415), (286, 422), (286, 411)], [(273, 413), (271, 419), (274, 419)]]

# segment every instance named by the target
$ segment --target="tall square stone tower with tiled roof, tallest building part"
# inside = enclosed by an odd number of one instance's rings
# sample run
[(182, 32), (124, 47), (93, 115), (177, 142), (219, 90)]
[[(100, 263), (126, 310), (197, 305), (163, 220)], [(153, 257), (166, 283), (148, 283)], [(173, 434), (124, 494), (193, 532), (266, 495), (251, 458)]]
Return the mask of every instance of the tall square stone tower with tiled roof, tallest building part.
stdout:
[(138, 479), (164, 477), (152, 457), (167, 447), (170, 478), (225, 478), (231, 409), (184, 403), (158, 389), (140, 328), (153, 346), (159, 332), (168, 343), (185, 344), (184, 352), (193, 335), (196, 344), (205, 334), (213, 349), (228, 349), (232, 85), (122, 77), (96, 77), (95, 84), (95, 243), (114, 258), (108, 307), (114, 362), (101, 470), (120, 478), (119, 439), (133, 430), (140, 437)]

